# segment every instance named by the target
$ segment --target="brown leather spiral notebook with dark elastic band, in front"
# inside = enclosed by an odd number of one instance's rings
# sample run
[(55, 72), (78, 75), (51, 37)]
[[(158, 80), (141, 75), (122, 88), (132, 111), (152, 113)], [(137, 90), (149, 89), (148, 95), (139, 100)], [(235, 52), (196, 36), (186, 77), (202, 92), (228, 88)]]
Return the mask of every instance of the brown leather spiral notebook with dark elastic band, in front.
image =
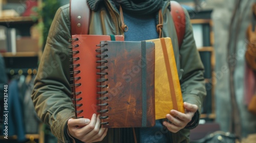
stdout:
[(103, 128), (155, 125), (155, 44), (101, 41), (97, 79)]

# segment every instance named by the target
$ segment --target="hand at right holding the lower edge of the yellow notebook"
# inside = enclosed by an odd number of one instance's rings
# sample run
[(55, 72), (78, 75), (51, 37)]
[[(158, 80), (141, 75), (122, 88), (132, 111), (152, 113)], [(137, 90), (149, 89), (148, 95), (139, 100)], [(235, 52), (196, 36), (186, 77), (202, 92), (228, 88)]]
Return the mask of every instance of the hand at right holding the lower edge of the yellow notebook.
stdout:
[(167, 120), (169, 120), (171, 123), (164, 121), (163, 125), (167, 127), (170, 132), (176, 133), (179, 130), (185, 128), (198, 110), (198, 107), (195, 104), (184, 102), (183, 106), (185, 108), (185, 113), (179, 112), (177, 110), (170, 110), (170, 114), (166, 114)]

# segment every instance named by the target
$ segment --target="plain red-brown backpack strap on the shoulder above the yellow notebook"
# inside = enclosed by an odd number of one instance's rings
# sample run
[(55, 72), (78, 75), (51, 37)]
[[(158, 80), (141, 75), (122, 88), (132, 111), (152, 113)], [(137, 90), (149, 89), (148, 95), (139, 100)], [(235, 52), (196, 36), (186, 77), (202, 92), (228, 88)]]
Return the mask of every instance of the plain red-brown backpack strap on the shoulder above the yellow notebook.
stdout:
[(170, 14), (173, 16), (179, 47), (181, 47), (186, 28), (185, 12), (178, 2), (170, 1)]

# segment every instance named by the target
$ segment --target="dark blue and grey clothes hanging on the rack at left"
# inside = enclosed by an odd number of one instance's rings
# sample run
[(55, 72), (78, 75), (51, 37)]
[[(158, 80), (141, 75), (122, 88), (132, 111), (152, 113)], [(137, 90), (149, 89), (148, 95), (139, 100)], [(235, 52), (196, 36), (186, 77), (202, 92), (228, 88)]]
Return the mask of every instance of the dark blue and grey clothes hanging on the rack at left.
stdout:
[(26, 134), (39, 132), (40, 120), (31, 99), (34, 76), (15, 75), (8, 85), (8, 136), (26, 141)]

